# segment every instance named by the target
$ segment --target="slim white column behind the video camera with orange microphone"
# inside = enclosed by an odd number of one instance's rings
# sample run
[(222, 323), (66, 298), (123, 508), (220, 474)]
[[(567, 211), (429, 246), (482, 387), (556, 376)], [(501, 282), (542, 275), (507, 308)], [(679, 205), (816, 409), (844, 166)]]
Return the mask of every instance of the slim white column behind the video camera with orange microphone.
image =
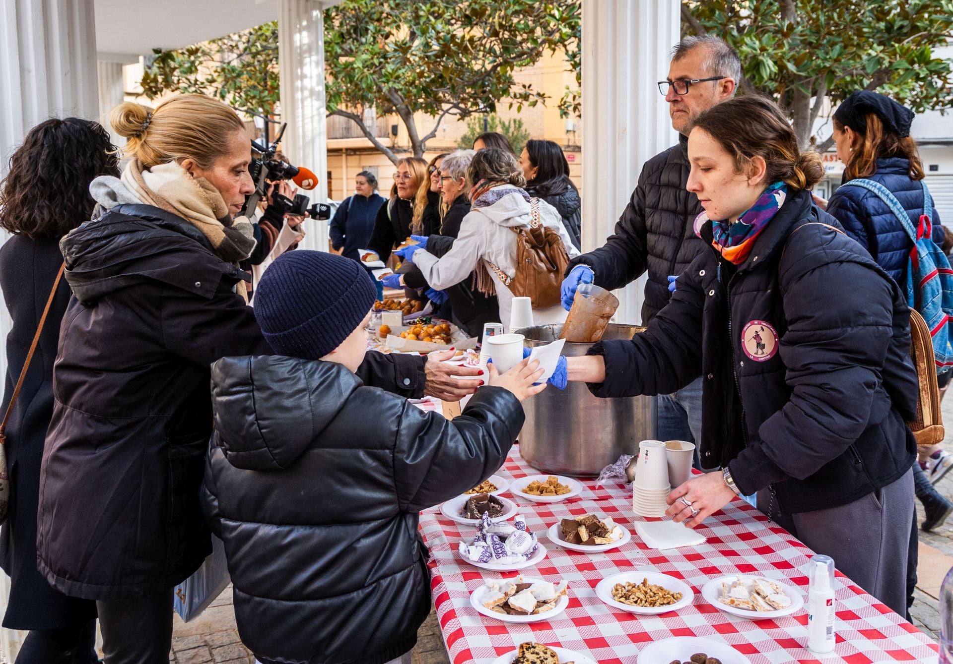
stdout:
[[(288, 123), (281, 150), (295, 166), (317, 175), (313, 203), (328, 200), (328, 141), (324, 103), (324, 17), (317, 0), (278, 0), (281, 120)], [(328, 251), (328, 222), (305, 221), (304, 249)]]

